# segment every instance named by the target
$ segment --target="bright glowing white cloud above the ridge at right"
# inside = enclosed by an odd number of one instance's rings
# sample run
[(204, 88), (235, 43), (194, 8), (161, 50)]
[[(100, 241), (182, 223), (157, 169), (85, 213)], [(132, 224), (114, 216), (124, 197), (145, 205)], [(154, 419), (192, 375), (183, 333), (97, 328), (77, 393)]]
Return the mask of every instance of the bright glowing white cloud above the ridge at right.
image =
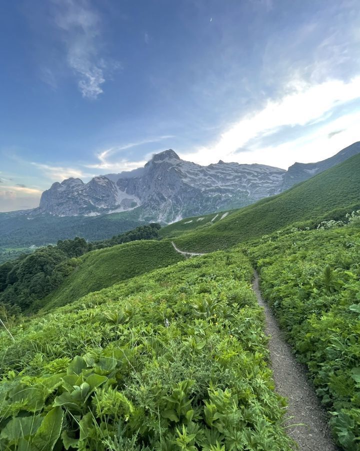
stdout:
[[(262, 163), (266, 160), (272, 161), (273, 165), (277, 161), (277, 164), (280, 163), (280, 166), (284, 167), (285, 164), (293, 161), (295, 155), (295, 152), (289, 154), (289, 148), (282, 158), (274, 156), (274, 148), (271, 148), (270, 152), (270, 149), (259, 150), (249, 147), (249, 153), (240, 155), (236, 154), (236, 150), (246, 147), (254, 138), (261, 139), (272, 135), (283, 127), (302, 126), (305, 132), (306, 126), (328, 120), (335, 107), (360, 98), (360, 77), (353, 78), (348, 83), (329, 80), (316, 85), (294, 80), (286, 87), (286, 92), (287, 94), (281, 100), (268, 100), (262, 110), (249, 114), (234, 123), (221, 134), (214, 144), (200, 147), (194, 152), (182, 153), (182, 157), (200, 164), (209, 164), (220, 158), (227, 161), (250, 162), (244, 161), (250, 158), (251, 162)], [(348, 129), (346, 124), (343, 125), (343, 127), (336, 126), (336, 128), (333, 125), (328, 133), (334, 129)], [(343, 133), (339, 136), (343, 138)], [(280, 146), (276, 148), (280, 148)], [(282, 148), (282, 150), (284, 149)], [(315, 155), (309, 155), (309, 157), (312, 160)]]

